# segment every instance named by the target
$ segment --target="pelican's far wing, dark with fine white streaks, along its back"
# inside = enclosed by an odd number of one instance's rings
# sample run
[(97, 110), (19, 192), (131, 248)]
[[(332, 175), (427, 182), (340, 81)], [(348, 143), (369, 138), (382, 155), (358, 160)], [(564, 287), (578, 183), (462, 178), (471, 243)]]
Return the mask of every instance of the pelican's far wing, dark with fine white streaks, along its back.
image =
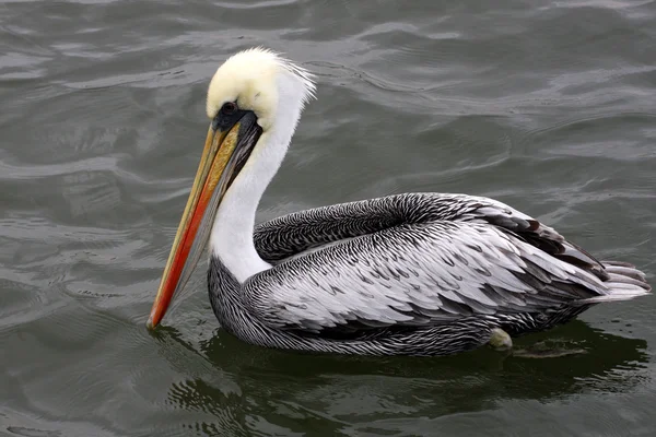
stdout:
[(345, 239), (435, 221), (491, 224), (520, 233), (548, 252), (598, 265), (579, 248), (563, 245), (565, 239), (551, 227), (504, 203), (467, 194), (413, 192), (298, 211), (258, 224), (254, 243), (263, 260), (278, 263)]

